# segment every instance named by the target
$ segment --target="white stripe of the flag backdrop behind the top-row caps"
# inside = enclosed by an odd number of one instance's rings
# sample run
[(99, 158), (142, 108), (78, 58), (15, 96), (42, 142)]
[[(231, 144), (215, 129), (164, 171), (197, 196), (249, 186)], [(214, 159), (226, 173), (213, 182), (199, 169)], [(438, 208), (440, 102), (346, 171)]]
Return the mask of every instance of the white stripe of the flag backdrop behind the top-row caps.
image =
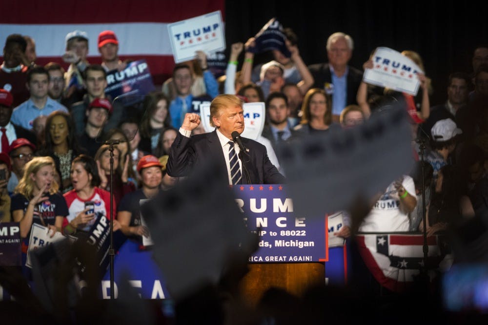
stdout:
[[(74, 30), (88, 34), (91, 57), (98, 57), (98, 35), (112, 30), (119, 39), (119, 55), (172, 56), (167, 23), (124, 22), (106, 24), (0, 24), (0, 44), (10, 34), (29, 35), (36, 41), (38, 57), (61, 57), (65, 51), (64, 38)], [(3, 46), (3, 45), (2, 45)]]

